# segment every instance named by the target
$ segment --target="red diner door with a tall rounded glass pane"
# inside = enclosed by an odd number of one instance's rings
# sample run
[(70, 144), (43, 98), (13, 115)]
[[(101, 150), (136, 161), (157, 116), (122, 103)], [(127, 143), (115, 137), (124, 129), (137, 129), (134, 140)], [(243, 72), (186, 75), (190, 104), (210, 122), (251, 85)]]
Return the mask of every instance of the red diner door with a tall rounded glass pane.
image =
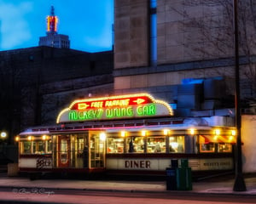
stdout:
[(69, 135), (59, 135), (58, 140), (58, 167), (69, 167), (70, 137)]

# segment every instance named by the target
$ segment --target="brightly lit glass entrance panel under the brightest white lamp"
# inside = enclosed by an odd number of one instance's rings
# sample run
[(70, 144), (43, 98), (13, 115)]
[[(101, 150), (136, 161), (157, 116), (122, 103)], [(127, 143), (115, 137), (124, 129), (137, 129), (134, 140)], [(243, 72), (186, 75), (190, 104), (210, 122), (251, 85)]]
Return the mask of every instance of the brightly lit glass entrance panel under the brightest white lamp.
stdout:
[(105, 167), (105, 140), (102, 132), (90, 133), (90, 167)]

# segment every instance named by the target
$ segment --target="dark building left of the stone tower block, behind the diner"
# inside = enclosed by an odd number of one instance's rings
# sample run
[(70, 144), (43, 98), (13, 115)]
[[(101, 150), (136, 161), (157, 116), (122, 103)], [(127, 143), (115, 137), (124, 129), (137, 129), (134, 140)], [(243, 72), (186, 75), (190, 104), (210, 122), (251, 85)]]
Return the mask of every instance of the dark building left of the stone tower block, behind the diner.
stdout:
[(0, 127), (9, 142), (20, 130), (53, 124), (73, 99), (112, 94), (113, 52), (50, 47), (0, 52)]

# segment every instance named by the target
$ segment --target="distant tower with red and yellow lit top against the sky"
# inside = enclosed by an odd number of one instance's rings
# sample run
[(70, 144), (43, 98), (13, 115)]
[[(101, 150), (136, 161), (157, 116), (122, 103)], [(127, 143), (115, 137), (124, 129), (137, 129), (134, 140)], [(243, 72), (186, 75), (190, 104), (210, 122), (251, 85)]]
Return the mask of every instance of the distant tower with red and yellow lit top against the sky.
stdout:
[(55, 8), (51, 6), (50, 14), (47, 16), (46, 37), (39, 37), (39, 46), (53, 48), (70, 48), (70, 41), (67, 35), (58, 34), (58, 17), (55, 15)]

